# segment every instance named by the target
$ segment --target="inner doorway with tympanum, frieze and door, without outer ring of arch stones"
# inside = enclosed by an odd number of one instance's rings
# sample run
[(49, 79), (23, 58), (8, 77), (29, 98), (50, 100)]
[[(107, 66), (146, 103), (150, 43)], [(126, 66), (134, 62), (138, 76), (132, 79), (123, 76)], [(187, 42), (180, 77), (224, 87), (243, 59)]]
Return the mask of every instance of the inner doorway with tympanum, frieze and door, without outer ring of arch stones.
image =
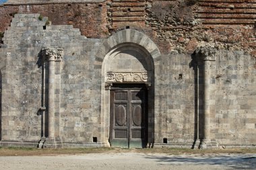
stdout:
[(152, 116), (148, 96), (154, 96), (154, 61), (149, 52), (137, 44), (119, 44), (105, 56), (102, 75), (109, 94), (110, 145), (146, 147), (148, 116)]

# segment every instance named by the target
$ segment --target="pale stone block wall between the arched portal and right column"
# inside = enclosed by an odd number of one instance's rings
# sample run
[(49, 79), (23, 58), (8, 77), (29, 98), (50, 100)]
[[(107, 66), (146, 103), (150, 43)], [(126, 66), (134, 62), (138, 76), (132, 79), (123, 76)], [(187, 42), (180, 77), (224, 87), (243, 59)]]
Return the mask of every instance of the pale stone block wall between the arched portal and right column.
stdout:
[[(191, 147), (195, 138), (195, 82), (189, 54), (162, 55), (156, 75), (155, 142)], [(178, 133), (177, 133), (178, 132)]]

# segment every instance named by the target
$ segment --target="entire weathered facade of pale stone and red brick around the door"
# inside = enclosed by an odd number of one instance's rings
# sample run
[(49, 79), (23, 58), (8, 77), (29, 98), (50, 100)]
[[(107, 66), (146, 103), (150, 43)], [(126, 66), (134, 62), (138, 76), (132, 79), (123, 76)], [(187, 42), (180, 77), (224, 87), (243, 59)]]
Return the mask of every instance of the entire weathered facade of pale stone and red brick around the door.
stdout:
[[(139, 88), (145, 103), (115, 102), (130, 105), (131, 126), (146, 124), (147, 146), (255, 146), (255, 1), (32, 0), (0, 11), (1, 146), (110, 146), (112, 92)], [(130, 115), (134, 104), (145, 111)]]

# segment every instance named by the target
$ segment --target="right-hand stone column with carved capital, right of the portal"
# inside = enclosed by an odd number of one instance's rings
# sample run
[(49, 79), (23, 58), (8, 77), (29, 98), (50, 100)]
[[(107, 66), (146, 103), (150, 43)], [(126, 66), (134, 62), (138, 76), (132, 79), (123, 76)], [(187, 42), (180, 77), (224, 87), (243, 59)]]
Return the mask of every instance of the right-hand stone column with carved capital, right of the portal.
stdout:
[[(207, 146), (214, 146), (215, 144), (212, 144), (212, 138), (210, 134), (210, 117), (211, 113), (210, 108), (212, 105), (215, 105), (214, 99), (211, 99), (212, 96), (214, 96), (214, 91), (216, 89), (215, 83), (212, 81), (212, 66), (215, 65), (216, 61), (216, 50), (213, 48), (199, 48), (196, 50), (197, 54), (197, 60), (199, 64), (199, 72), (201, 72), (199, 75), (201, 75), (201, 82), (203, 85), (199, 85), (199, 87), (203, 87), (201, 89), (201, 96), (199, 96), (199, 99), (201, 99), (201, 117), (199, 119), (203, 118), (203, 124), (199, 126), (199, 129), (201, 132), (203, 132), (203, 138), (201, 138), (201, 144), (199, 148), (207, 148)], [(200, 81), (200, 80), (199, 80)]]

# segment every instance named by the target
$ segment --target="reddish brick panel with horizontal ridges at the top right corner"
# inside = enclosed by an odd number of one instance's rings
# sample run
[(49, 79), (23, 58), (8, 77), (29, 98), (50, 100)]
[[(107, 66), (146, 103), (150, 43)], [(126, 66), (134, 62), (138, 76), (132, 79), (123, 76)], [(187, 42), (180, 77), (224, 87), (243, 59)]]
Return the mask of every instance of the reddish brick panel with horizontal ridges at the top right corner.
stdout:
[(254, 25), (256, 19), (255, 0), (200, 0), (197, 18), (205, 26), (210, 25)]

